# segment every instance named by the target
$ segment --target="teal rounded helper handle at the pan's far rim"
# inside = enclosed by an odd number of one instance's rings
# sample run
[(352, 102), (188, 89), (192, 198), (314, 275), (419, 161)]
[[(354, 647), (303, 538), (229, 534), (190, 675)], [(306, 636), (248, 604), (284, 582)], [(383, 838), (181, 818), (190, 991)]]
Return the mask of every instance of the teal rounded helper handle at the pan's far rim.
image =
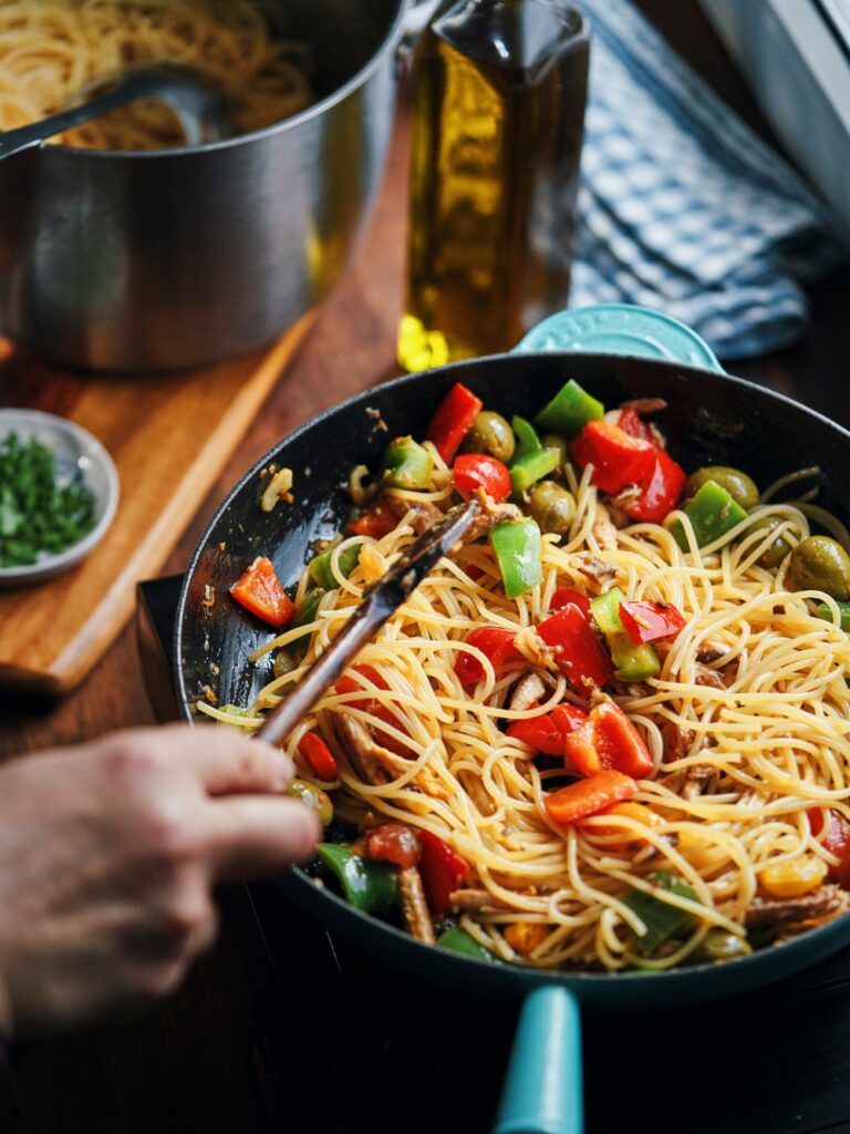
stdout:
[(559, 311), (533, 327), (513, 350), (629, 355), (724, 373), (712, 348), (696, 331), (660, 311), (630, 303)]

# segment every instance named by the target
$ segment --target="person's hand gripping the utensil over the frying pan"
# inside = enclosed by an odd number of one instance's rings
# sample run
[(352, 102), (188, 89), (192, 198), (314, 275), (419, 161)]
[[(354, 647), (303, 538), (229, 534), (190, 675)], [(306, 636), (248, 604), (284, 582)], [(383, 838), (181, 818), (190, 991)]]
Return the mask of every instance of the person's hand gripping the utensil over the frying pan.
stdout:
[(0, 767), (0, 1023), (37, 1034), (155, 1000), (215, 937), (211, 890), (307, 857), (291, 760), (212, 726)]

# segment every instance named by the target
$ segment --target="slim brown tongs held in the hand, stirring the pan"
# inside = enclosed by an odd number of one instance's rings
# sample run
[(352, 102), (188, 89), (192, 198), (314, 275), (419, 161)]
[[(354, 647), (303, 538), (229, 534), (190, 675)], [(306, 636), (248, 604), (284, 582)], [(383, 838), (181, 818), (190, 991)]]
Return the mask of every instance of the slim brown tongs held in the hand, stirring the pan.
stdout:
[(287, 737), (432, 568), (464, 541), (481, 514), (475, 499), (458, 505), (411, 543), (384, 577), (364, 591), (363, 602), (345, 627), (254, 735), (271, 744)]

